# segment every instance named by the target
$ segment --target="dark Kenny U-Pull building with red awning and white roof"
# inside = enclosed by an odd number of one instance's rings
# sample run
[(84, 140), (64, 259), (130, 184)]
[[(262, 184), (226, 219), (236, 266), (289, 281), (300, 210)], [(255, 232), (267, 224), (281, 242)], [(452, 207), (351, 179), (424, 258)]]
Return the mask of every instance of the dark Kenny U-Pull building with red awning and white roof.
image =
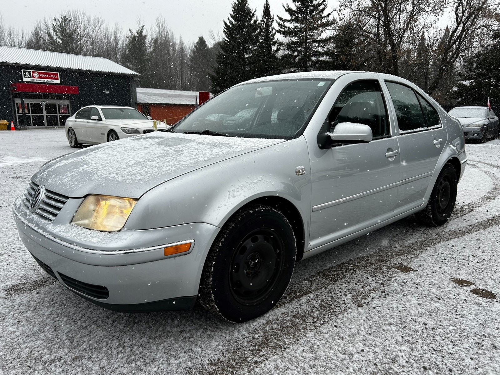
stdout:
[(82, 106), (135, 106), (138, 76), (107, 58), (0, 46), (0, 120), (64, 126)]

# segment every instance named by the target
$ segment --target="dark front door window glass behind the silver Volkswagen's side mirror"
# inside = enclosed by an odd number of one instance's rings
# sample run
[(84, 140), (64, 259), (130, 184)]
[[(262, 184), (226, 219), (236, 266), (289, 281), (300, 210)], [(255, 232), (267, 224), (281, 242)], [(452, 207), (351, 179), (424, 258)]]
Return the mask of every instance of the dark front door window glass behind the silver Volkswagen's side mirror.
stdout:
[(380, 86), (375, 80), (349, 84), (338, 96), (328, 115), (330, 131), (340, 122), (362, 123), (371, 127), (373, 138), (390, 136)]

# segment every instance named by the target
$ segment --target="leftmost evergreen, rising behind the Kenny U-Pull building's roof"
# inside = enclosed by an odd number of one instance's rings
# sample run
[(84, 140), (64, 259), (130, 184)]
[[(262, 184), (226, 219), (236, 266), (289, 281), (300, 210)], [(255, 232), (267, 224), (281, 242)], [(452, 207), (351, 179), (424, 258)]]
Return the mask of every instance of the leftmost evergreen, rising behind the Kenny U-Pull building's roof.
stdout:
[(83, 45), (78, 25), (73, 24), (67, 15), (54, 17), (51, 30), (47, 27), (45, 33), (48, 50), (71, 54), (82, 53)]

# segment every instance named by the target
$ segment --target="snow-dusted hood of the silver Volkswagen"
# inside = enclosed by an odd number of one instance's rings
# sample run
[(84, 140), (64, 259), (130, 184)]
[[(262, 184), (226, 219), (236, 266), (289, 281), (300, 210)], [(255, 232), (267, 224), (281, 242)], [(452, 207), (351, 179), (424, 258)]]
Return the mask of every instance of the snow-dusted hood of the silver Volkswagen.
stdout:
[(31, 179), (69, 197), (105, 194), (138, 198), (181, 174), (282, 141), (153, 132), (59, 156), (45, 163)]

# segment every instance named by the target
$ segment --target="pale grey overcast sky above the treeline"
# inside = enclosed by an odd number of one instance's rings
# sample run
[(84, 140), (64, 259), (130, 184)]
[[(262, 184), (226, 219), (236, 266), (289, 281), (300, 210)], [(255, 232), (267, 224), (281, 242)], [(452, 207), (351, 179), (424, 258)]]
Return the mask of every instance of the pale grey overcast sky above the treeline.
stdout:
[[(265, 0), (248, 0), (260, 16)], [(87, 14), (99, 15), (110, 24), (118, 22), (124, 31), (135, 29), (140, 16), (148, 28), (158, 14), (184, 41), (194, 42), (199, 35), (208, 36), (212, 29), (222, 31), (222, 20), (227, 19), (231, 0), (3, 0), (0, 14), (6, 25), (31, 30), (36, 19), (52, 18), (66, 9), (80, 9)], [(282, 4), (286, 0), (269, 0), (271, 13), (284, 16)], [(329, 1), (333, 3), (332, 0)], [(8, 5), (7, 5), (8, 4)], [(330, 5), (331, 6), (331, 5)], [(329, 9), (330, 10), (330, 9)]]

